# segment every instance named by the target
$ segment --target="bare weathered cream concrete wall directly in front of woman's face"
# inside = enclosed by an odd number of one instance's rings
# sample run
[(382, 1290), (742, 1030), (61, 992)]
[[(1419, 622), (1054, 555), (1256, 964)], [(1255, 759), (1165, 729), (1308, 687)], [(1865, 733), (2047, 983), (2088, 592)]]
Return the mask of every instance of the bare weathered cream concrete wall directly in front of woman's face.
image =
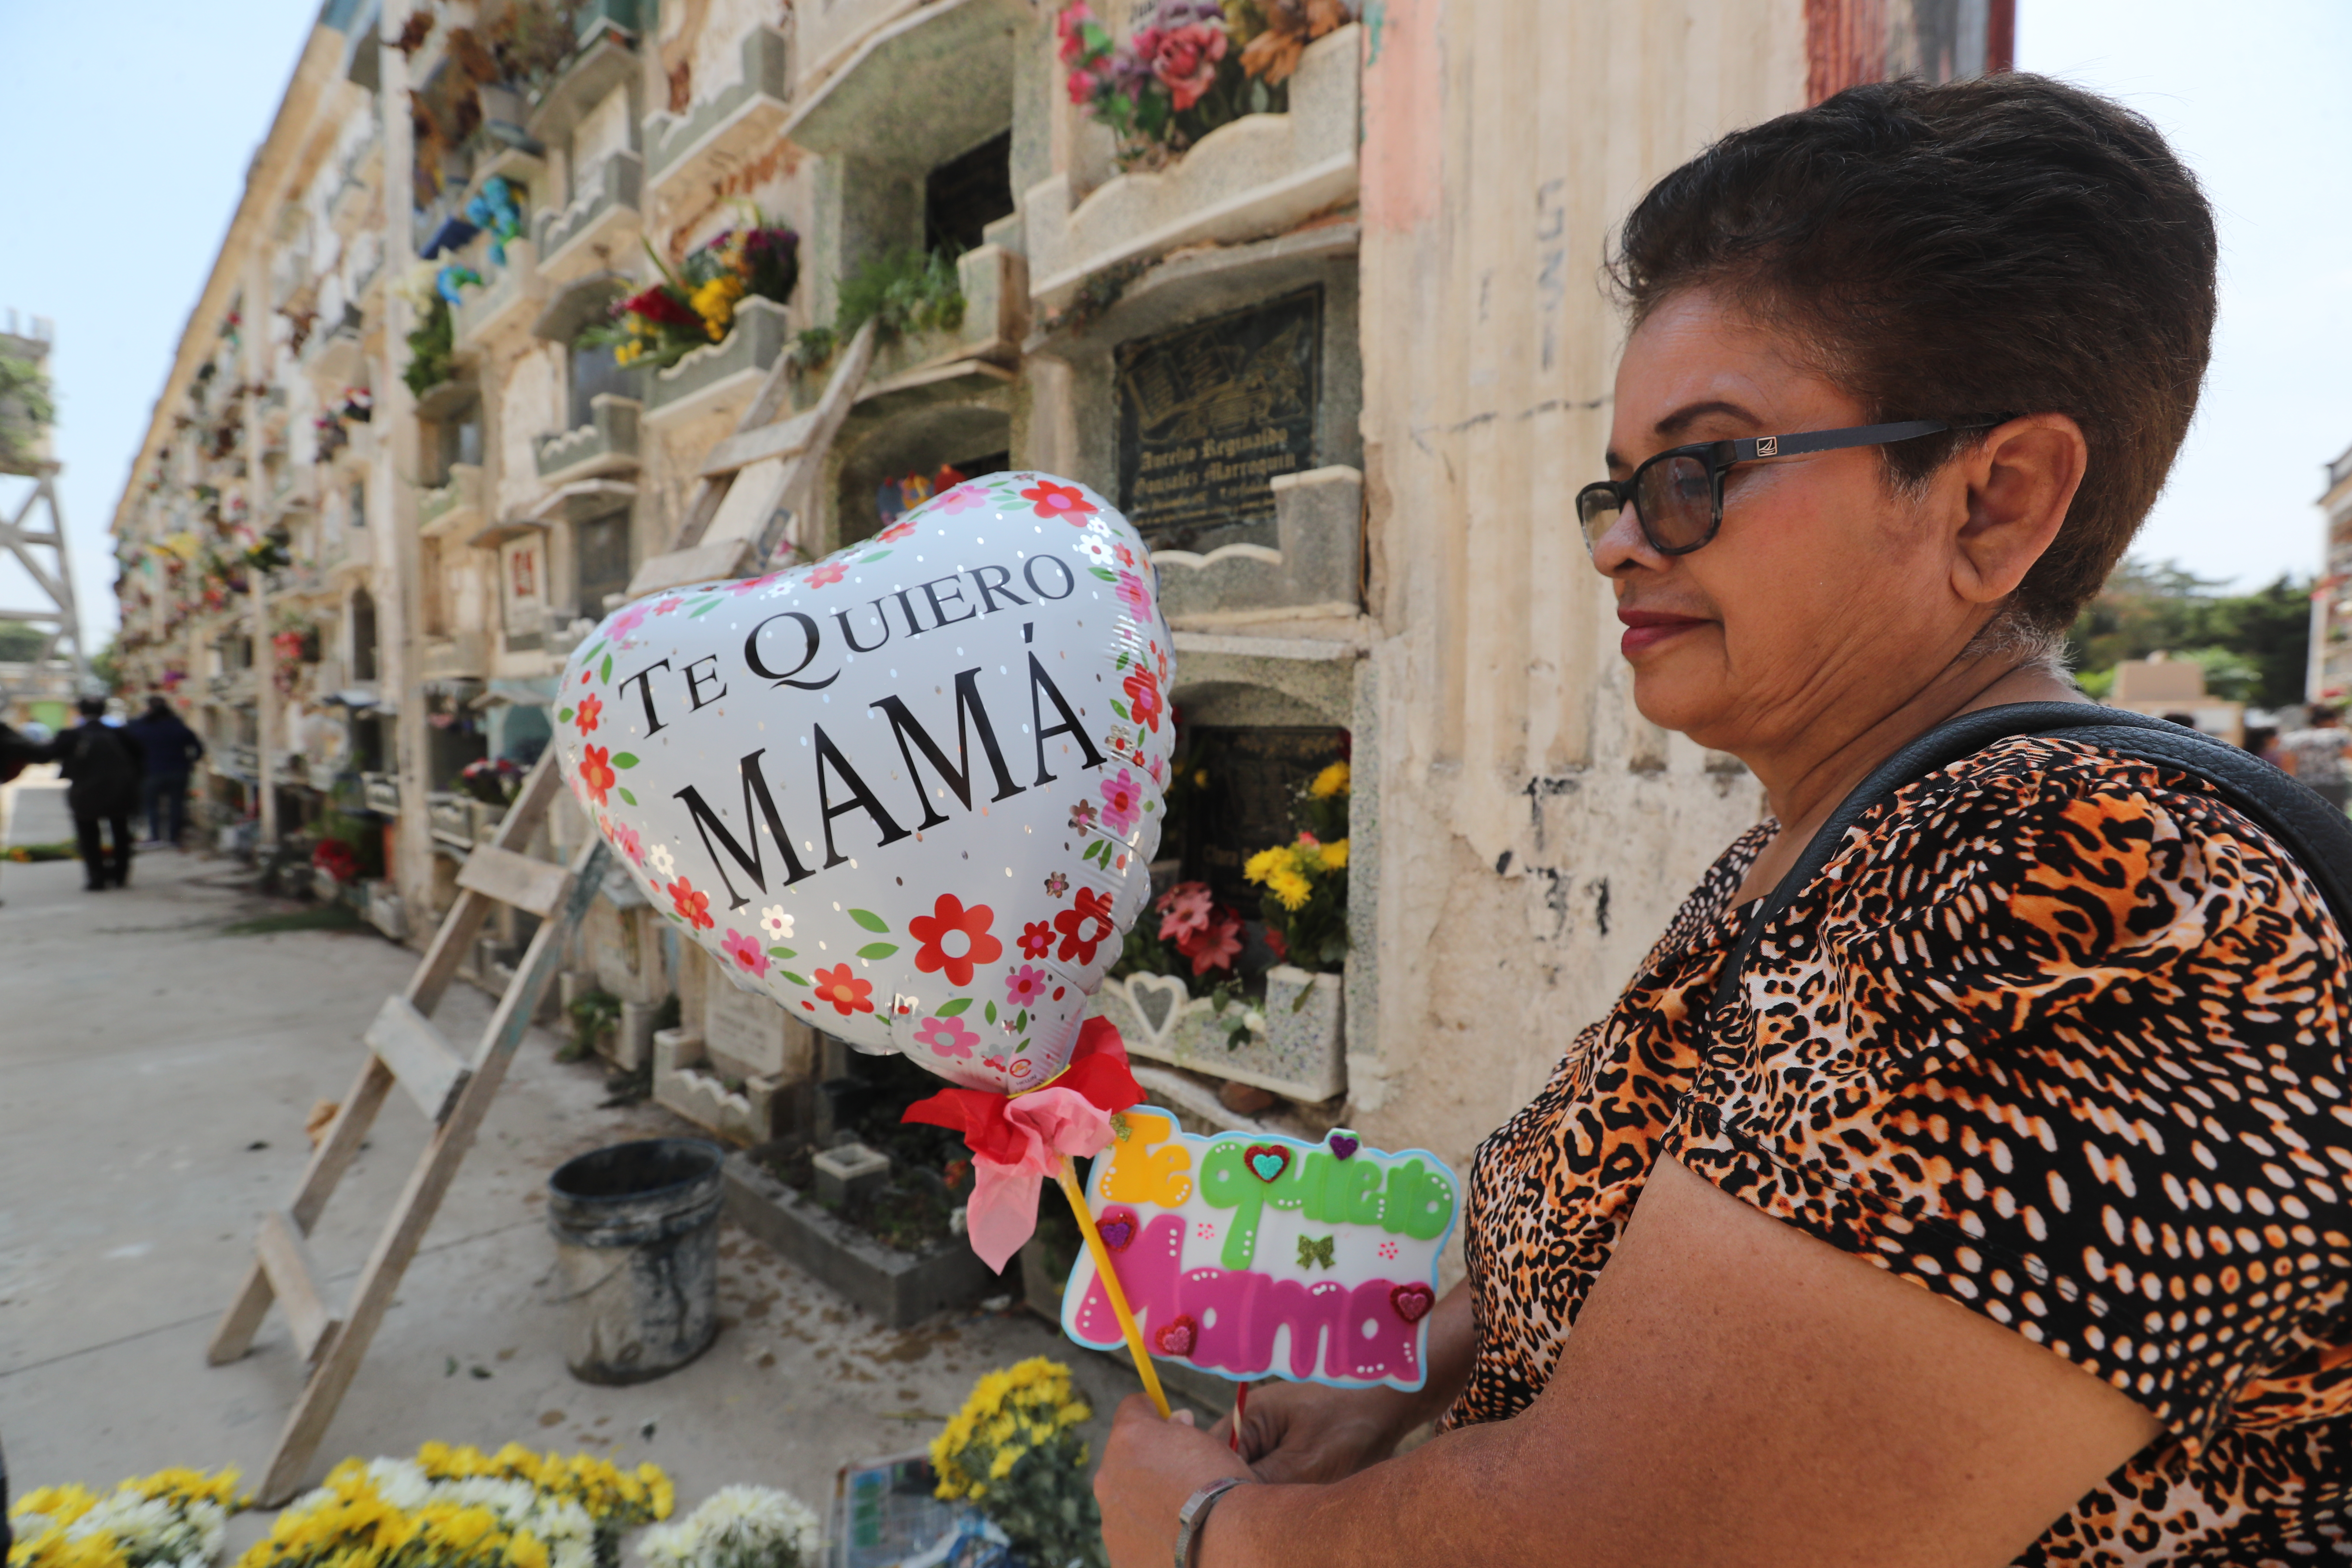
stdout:
[(1804, 101), (1799, 0), (1385, 5), (1367, 24), (1364, 470), (1378, 691), (1376, 1140), (1463, 1157), (1748, 823), (1646, 724), (1571, 515), (1621, 324), (1611, 223)]

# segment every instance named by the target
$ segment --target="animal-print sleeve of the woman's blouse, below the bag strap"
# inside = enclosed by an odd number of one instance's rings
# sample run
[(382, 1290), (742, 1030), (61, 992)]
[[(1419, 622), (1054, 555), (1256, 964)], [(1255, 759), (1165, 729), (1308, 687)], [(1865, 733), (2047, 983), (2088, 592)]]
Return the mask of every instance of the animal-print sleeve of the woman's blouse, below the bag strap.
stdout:
[(2281, 1389), (2352, 1410), (2345, 943), (2201, 780), (1955, 764), (1863, 818), (1731, 1011), (1665, 1154), (2192, 1448)]

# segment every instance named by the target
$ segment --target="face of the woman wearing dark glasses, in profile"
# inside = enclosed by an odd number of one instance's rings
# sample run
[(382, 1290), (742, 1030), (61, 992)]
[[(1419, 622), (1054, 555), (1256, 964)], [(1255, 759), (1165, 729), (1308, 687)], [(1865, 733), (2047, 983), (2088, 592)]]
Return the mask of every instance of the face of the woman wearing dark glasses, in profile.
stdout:
[[(1625, 346), (1609, 475), (1689, 442), (1865, 423), (1783, 339), (1693, 289)], [(1969, 496), (1943, 480), (1896, 494), (1877, 447), (1740, 463), (1722, 531), (1691, 555), (1658, 555), (1623, 510), (1592, 564), (1616, 585), (1642, 715), (1755, 757), (1802, 743), (1828, 712), (1867, 724), (1907, 701), (1990, 618), (1955, 590)]]

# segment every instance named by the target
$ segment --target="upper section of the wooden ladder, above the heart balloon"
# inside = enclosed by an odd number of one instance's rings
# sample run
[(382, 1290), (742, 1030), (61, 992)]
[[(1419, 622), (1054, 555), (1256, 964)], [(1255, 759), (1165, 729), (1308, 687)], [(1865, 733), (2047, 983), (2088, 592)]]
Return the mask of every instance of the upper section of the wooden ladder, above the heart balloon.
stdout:
[(875, 357), (875, 322), (858, 327), (826, 395), (807, 414), (771, 423), (790, 390), (790, 355), (779, 355), (734, 435), (710, 449), (666, 555), (652, 555), (628, 578), (628, 597), (663, 588), (750, 576), (767, 567), (797, 512), (809, 508), (826, 449), (866, 386)]

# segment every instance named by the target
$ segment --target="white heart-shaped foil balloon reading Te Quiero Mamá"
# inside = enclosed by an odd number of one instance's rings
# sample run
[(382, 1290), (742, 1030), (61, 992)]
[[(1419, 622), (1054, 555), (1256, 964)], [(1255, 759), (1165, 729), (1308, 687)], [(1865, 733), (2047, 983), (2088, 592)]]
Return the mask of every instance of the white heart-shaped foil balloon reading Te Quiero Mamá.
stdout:
[(557, 745), (736, 985), (1021, 1091), (1061, 1072), (1150, 898), (1169, 658), (1134, 524), (1000, 473), (816, 564), (614, 611), (564, 670)]

